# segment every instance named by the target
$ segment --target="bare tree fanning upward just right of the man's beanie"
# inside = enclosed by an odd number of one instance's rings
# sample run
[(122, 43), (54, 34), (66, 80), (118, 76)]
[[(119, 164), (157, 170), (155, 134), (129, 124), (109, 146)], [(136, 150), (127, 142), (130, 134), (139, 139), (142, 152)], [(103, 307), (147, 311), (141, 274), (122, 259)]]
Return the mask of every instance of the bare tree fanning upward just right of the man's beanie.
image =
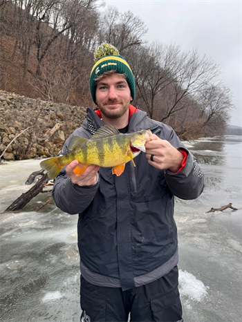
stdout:
[(164, 46), (158, 42), (133, 48), (130, 55), (138, 92), (149, 116), (154, 117), (158, 108), (156, 97), (176, 79), (183, 55), (178, 46)]

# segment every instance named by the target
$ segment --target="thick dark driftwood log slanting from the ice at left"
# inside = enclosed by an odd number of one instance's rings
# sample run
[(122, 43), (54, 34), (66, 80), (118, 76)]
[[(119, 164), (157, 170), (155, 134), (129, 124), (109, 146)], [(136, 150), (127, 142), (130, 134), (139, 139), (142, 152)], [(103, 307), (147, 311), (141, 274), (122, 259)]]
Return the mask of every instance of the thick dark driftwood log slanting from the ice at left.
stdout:
[(27, 203), (37, 196), (39, 192), (41, 192), (45, 186), (45, 184), (48, 182), (49, 178), (47, 173), (35, 183), (35, 185), (32, 186), (26, 193), (22, 193), (19, 198), (17, 198), (14, 202), (12, 202), (12, 205), (10, 205), (5, 211), (15, 211), (24, 208)]

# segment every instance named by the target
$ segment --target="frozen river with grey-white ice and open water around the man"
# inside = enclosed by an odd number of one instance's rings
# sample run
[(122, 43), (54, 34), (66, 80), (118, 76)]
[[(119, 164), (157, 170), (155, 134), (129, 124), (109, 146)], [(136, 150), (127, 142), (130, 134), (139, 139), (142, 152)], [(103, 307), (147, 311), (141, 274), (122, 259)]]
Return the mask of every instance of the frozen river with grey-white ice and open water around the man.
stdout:
[[(185, 322), (242, 321), (241, 141), (187, 143), (205, 173), (205, 190), (175, 206)], [(24, 183), (37, 170), (39, 160), (0, 164), (0, 211), (30, 188)], [(77, 216), (55, 205), (35, 212), (49, 196), (40, 193), (22, 211), (0, 214), (1, 322), (80, 322)], [(206, 214), (229, 202), (239, 210)]]

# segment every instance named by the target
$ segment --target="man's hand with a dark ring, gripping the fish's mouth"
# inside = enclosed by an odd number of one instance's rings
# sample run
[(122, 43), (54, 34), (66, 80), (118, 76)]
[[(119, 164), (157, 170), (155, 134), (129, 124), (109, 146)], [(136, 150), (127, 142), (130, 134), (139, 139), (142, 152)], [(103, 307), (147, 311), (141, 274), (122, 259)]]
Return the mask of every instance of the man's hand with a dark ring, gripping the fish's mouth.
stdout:
[[(147, 140), (145, 148), (149, 164), (156, 169), (169, 169), (173, 173), (180, 169), (184, 156), (167, 140), (161, 140), (153, 134)], [(153, 161), (151, 161), (151, 154), (153, 154)]]

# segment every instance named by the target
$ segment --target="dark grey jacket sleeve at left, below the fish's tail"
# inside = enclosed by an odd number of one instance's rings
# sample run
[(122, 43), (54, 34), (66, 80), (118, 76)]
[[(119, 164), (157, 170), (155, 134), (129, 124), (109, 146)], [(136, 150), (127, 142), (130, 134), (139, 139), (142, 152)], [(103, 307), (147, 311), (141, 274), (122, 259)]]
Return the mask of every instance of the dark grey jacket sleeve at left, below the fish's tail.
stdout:
[[(64, 144), (62, 155), (68, 153), (67, 144)], [(91, 204), (99, 187), (99, 176), (97, 182), (92, 186), (80, 187), (73, 184), (66, 176), (64, 167), (55, 178), (53, 186), (53, 199), (59, 209), (68, 214), (81, 214)]]

